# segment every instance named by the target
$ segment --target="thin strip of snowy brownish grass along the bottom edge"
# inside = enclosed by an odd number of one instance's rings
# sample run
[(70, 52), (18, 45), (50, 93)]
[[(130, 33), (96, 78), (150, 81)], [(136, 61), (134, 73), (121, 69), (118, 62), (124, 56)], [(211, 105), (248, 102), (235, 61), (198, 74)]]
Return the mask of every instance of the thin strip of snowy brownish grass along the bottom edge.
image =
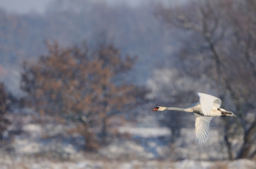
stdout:
[(0, 159), (0, 169), (15, 168), (15, 169), (200, 169), (200, 168), (232, 168), (232, 169), (254, 169), (256, 168), (256, 162), (248, 159), (240, 159), (237, 161), (193, 161), (193, 160), (182, 160), (177, 162), (171, 161), (106, 161), (106, 160), (81, 160), (81, 161), (50, 161), (45, 159), (35, 158), (10, 158), (5, 157)]

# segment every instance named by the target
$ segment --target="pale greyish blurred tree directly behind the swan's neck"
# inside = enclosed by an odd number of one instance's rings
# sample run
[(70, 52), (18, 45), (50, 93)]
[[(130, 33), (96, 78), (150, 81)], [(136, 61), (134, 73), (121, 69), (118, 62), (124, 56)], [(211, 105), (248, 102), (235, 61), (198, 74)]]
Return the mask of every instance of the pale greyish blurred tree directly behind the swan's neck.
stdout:
[[(184, 107), (186, 103), (190, 105), (198, 101), (198, 98), (194, 96), (194, 92), (200, 86), (198, 85), (199, 83), (193, 82), (192, 78), (186, 77), (184, 72), (177, 69), (155, 70), (152, 78), (148, 80), (148, 86), (152, 88), (148, 97), (154, 99), (156, 105)], [(170, 144), (172, 145), (179, 138), (180, 129), (188, 124), (188, 121), (184, 119), (190, 115), (182, 112), (172, 113), (167, 111), (161, 114), (163, 114), (163, 117), (160, 116), (159, 124), (172, 131), (172, 135), (170, 135)]]

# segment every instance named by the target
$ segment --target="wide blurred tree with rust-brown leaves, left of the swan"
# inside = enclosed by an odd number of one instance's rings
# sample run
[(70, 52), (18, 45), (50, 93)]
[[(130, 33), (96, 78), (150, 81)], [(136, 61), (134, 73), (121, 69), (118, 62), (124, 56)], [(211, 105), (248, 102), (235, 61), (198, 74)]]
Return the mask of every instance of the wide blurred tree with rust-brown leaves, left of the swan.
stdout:
[(28, 104), (41, 115), (76, 121), (86, 149), (97, 149), (99, 143), (107, 143), (109, 119), (143, 99), (143, 94), (136, 95), (140, 87), (122, 81), (136, 57), (123, 58), (113, 45), (90, 52), (85, 44), (66, 48), (47, 44), (48, 55), (24, 63), (21, 88), (28, 93)]

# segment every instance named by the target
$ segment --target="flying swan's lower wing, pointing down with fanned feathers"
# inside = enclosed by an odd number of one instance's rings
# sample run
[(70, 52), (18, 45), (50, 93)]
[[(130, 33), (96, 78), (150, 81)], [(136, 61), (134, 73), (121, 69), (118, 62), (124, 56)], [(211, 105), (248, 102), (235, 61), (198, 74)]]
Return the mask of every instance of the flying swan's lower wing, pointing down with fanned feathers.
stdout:
[(198, 143), (203, 143), (207, 138), (212, 117), (195, 114), (196, 138)]

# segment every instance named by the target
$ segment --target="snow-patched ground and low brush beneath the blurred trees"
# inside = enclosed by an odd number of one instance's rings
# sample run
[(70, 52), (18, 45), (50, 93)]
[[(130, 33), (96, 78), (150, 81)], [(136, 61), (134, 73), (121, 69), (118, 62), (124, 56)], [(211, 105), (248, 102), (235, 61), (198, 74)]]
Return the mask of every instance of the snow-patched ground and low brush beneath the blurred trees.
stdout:
[(118, 131), (129, 136), (113, 140), (98, 152), (88, 153), (83, 151), (83, 138), (77, 141), (81, 136), (74, 139), (76, 143), (68, 140), (66, 127), (23, 124), (23, 133), (12, 142), (13, 152), (0, 152), (0, 169), (256, 168), (256, 161), (248, 159), (223, 161), (227, 159), (227, 150), (220, 131), (214, 128), (202, 144), (196, 142), (195, 128), (182, 128), (180, 138), (170, 146), (168, 138), (172, 133), (168, 128), (124, 126)]

